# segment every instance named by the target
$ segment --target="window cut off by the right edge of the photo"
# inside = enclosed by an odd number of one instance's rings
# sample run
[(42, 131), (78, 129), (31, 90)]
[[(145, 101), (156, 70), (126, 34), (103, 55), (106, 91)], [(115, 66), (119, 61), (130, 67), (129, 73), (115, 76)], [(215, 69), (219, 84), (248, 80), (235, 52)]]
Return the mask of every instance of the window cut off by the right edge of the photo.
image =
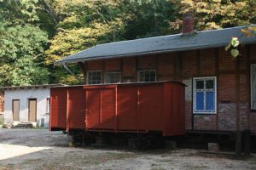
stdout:
[(251, 109), (256, 110), (256, 64), (251, 65)]

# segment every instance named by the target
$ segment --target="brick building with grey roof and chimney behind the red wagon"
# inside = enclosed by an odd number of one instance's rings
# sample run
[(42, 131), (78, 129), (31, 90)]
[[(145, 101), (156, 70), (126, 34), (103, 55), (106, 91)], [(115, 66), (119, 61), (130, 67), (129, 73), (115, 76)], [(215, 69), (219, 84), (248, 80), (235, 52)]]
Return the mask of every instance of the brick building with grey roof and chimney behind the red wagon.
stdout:
[[(196, 132), (256, 134), (256, 37), (241, 27), (194, 31), (184, 15), (183, 32), (96, 45), (57, 61), (79, 65), (87, 84), (178, 81), (185, 93), (186, 129)], [(234, 59), (224, 47), (242, 43)]]

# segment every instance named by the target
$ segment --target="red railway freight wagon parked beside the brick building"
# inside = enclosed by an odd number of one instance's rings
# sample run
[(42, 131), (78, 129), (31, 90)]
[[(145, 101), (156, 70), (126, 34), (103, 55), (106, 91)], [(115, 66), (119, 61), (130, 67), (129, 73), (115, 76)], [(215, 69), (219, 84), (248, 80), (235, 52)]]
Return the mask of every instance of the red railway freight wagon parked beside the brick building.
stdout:
[(50, 130), (66, 131), (74, 144), (117, 133), (154, 134), (158, 139), (183, 135), (184, 85), (148, 82), (51, 88)]

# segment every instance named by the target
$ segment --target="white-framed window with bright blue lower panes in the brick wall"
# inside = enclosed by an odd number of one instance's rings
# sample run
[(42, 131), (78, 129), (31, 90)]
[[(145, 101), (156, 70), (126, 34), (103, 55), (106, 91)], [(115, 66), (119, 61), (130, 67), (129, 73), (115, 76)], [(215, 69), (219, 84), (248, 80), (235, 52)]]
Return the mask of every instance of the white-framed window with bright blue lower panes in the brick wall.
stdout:
[(216, 77), (193, 79), (194, 113), (216, 113)]

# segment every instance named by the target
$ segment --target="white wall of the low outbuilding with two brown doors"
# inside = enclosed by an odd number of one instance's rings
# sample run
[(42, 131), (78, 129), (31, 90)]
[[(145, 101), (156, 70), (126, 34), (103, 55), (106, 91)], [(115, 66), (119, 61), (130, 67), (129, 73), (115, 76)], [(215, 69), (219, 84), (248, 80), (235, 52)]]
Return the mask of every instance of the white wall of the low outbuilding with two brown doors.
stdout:
[[(20, 99), (20, 122), (28, 122), (28, 99), (37, 99), (37, 122), (34, 126), (41, 125), (44, 119), (44, 127), (49, 126), (49, 113), (47, 113), (47, 98), (49, 88), (16, 88), (4, 92), (4, 123), (13, 122), (12, 102), (13, 99)], [(19, 122), (13, 122), (18, 124)]]

